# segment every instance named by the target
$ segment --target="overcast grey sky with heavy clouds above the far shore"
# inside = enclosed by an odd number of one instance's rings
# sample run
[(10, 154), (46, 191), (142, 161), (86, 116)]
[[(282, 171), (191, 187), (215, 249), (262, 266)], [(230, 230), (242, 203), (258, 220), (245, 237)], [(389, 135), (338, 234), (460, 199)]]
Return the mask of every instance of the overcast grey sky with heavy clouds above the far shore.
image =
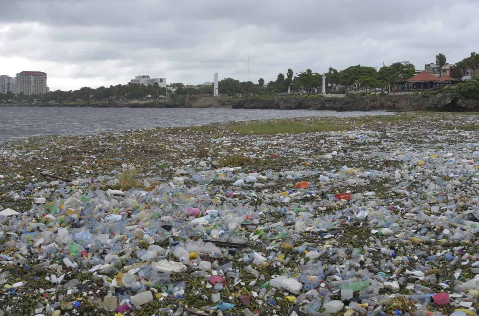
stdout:
[(135, 75), (255, 83), (478, 51), (479, 0), (0, 0), (0, 74), (44, 71), (52, 90)]

